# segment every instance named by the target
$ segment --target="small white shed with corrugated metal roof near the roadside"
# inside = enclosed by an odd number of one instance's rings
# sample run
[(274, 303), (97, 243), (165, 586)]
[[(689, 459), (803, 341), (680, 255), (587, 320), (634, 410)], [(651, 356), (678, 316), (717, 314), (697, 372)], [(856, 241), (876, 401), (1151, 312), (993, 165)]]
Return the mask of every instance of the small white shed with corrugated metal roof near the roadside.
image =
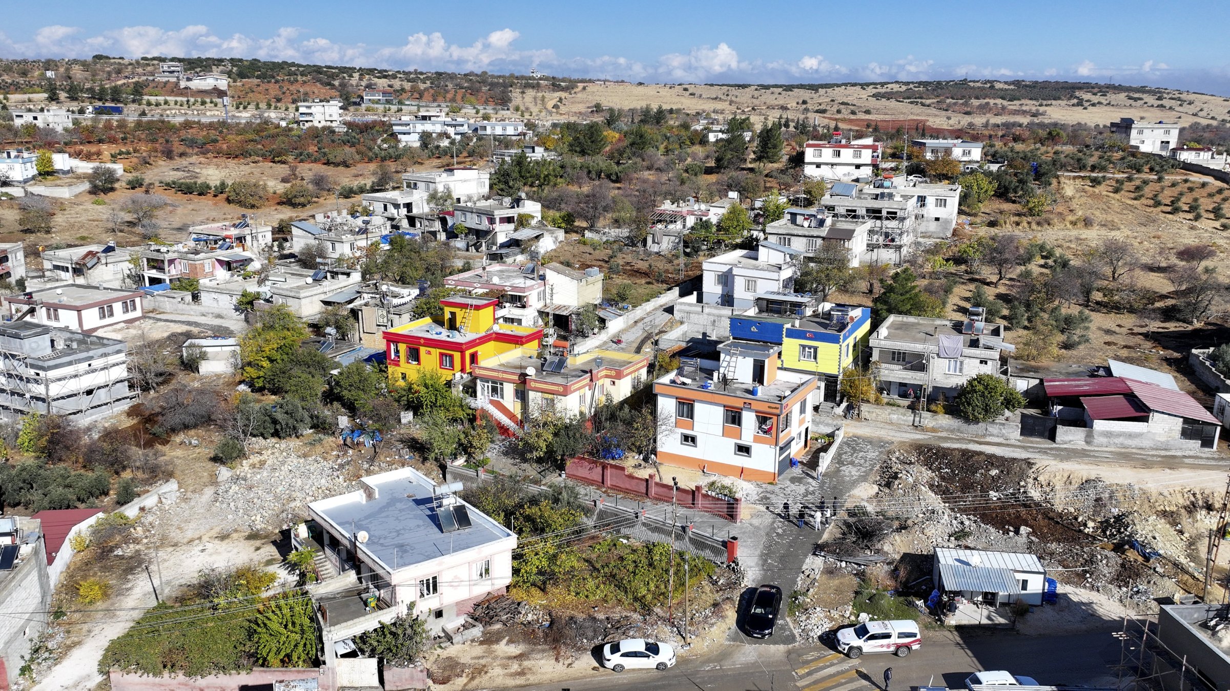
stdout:
[(991, 606), (1017, 600), (1041, 605), (1047, 569), (1038, 557), (1022, 552), (936, 547), (931, 579), (940, 593)]

